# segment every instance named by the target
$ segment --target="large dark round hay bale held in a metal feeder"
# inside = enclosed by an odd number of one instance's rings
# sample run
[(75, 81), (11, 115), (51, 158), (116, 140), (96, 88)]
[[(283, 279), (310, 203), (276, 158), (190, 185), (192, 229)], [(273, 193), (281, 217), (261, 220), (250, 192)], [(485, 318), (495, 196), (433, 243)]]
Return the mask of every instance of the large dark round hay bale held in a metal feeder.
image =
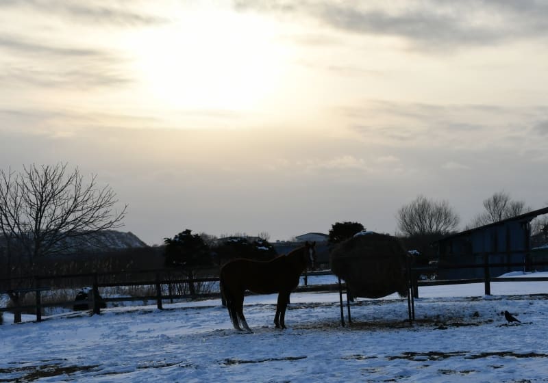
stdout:
[(399, 239), (378, 233), (360, 233), (343, 241), (330, 256), (332, 272), (345, 280), (352, 295), (382, 298), (407, 296), (407, 257)]

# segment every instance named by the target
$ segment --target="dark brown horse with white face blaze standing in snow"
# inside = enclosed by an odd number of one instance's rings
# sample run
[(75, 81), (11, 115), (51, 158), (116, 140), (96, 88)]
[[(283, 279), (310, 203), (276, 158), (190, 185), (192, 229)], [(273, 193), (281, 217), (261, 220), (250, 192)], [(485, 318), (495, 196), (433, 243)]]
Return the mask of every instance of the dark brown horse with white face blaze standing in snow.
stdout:
[(258, 294), (278, 293), (274, 324), (286, 328), (286, 308), (291, 291), (299, 285), (299, 277), (308, 267), (314, 266), (316, 242), (305, 243), (287, 255), (277, 256), (271, 261), (234, 259), (221, 268), (221, 292), (225, 298), (228, 314), (236, 330), (251, 331), (244, 317), (244, 292)]

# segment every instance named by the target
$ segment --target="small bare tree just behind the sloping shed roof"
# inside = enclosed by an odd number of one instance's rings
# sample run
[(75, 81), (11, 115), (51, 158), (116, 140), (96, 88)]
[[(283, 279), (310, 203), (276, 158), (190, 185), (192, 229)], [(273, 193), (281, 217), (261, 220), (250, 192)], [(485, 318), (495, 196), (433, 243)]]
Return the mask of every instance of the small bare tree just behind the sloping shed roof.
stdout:
[(473, 227), (484, 226), (493, 222), (506, 220), (516, 217), (530, 211), (530, 207), (525, 206), (525, 201), (512, 200), (510, 194), (506, 192), (497, 192), (484, 200), (485, 211), (479, 213), (472, 222)]

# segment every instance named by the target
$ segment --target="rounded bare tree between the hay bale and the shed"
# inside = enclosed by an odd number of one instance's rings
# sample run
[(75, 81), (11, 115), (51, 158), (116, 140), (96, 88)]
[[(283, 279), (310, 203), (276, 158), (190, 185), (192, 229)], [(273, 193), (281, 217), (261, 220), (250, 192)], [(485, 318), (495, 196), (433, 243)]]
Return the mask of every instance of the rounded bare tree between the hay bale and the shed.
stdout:
[(418, 196), (397, 213), (398, 229), (407, 237), (446, 235), (458, 226), (460, 218), (447, 201)]

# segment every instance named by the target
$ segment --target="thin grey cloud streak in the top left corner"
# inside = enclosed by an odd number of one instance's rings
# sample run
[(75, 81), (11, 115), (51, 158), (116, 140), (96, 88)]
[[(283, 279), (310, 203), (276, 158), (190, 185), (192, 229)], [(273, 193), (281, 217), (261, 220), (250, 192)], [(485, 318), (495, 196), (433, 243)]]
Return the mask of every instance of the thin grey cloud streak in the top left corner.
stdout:
[(168, 22), (166, 18), (146, 12), (134, 12), (128, 11), (125, 8), (116, 8), (112, 6), (112, 2), (70, 0), (8, 0), (0, 2), (0, 8), (14, 7), (27, 8), (42, 14), (54, 14), (66, 20), (78, 23), (92, 23), (94, 25), (139, 27), (160, 25)]

